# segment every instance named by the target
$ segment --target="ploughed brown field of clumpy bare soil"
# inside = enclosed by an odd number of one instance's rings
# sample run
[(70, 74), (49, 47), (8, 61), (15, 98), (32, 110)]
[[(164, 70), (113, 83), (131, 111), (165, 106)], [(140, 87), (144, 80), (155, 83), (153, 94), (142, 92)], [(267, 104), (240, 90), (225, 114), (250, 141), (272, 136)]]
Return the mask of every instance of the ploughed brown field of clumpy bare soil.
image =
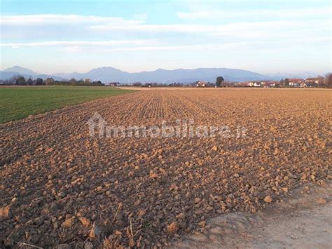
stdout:
[[(331, 90), (141, 90), (1, 124), (0, 246), (205, 238), (210, 217), (331, 180), (331, 103)], [(109, 126), (193, 120), (246, 135), (90, 137), (96, 112)]]

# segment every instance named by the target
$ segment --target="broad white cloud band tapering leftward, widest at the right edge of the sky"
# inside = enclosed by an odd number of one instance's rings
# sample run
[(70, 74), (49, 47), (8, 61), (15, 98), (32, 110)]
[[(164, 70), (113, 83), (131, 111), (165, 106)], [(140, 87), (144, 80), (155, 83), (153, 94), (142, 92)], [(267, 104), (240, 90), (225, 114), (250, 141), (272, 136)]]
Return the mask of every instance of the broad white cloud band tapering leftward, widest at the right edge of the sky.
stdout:
[(225, 25), (92, 25), (90, 29), (99, 32), (155, 32), (192, 33), (197, 36), (226, 36), (242, 38), (266, 38), (272, 36), (311, 36), (322, 31), (329, 34), (328, 20), (282, 20), (270, 22), (234, 22)]

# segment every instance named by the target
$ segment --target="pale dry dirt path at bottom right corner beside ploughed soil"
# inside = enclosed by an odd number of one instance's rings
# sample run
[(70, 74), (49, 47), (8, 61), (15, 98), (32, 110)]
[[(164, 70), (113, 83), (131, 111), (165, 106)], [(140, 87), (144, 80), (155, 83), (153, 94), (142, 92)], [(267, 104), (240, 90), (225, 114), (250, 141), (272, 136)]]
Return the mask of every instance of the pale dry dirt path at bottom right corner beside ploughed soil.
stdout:
[(212, 218), (172, 247), (331, 248), (331, 201), (331, 182), (299, 188), (282, 203), (254, 215), (236, 212)]

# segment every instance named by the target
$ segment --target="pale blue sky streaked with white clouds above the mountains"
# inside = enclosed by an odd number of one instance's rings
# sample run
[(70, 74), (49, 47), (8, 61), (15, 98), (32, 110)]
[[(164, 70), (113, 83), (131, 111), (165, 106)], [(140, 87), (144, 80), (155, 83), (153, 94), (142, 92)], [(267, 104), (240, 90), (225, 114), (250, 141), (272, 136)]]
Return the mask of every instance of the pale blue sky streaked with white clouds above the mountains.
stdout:
[(332, 71), (325, 0), (0, 0), (0, 13), (0, 69)]

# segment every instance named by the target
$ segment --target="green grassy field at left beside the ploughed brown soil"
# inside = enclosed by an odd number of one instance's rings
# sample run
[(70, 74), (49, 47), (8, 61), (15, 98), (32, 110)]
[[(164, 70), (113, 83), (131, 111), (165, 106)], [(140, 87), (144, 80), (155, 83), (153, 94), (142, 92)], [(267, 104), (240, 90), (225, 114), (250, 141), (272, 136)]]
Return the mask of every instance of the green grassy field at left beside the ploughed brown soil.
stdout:
[(131, 92), (107, 86), (0, 87), (0, 123)]

